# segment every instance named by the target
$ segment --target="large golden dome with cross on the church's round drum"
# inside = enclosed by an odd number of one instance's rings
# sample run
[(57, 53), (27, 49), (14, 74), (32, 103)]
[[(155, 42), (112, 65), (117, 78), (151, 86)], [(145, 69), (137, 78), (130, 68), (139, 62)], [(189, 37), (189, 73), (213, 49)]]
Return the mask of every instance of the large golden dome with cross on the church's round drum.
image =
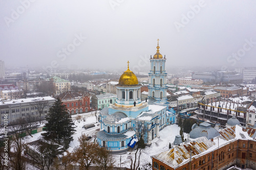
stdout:
[(136, 85), (139, 84), (137, 77), (129, 69), (129, 61), (128, 63), (128, 68), (126, 71), (123, 72), (122, 76), (119, 78), (119, 83), (118, 85)]

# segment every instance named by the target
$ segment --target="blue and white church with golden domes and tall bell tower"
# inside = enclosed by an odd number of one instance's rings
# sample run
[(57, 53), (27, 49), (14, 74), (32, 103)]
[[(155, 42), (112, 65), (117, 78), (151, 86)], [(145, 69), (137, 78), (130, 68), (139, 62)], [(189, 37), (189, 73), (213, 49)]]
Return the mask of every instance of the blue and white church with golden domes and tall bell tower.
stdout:
[(141, 85), (127, 62), (128, 68), (116, 85), (116, 102), (99, 112), (100, 131), (96, 136), (101, 147), (107, 147), (113, 153), (125, 152), (134, 147), (142, 128), (144, 142), (151, 143), (159, 136), (159, 131), (176, 123), (176, 112), (168, 109), (166, 59), (159, 53), (159, 48), (158, 43), (157, 53), (150, 59), (146, 101), (141, 101)]

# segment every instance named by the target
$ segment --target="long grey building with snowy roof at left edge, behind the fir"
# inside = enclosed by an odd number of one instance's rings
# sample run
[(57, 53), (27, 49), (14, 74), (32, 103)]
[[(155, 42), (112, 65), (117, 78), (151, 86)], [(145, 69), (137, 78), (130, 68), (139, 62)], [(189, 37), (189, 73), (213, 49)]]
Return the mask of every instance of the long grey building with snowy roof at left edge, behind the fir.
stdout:
[[(18, 99), (11, 101), (2, 101), (0, 103), (1, 125), (4, 125), (4, 121), (7, 118), (8, 124), (19, 118), (27, 118), (29, 116), (39, 119), (39, 113), (37, 110), (37, 105), (40, 102), (44, 102), (46, 107), (44, 112), (41, 114), (41, 120), (45, 119), (49, 108), (55, 103), (55, 99), (50, 96), (45, 96), (43, 98), (27, 98)], [(7, 116), (6, 116), (7, 114)]]

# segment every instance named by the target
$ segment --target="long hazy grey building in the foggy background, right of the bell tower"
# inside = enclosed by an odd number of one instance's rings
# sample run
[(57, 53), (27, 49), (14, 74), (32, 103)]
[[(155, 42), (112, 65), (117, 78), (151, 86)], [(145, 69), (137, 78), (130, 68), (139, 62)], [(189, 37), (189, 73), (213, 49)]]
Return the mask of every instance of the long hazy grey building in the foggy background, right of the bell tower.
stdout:
[(204, 82), (242, 83), (243, 75), (235, 71), (192, 72), (192, 79)]

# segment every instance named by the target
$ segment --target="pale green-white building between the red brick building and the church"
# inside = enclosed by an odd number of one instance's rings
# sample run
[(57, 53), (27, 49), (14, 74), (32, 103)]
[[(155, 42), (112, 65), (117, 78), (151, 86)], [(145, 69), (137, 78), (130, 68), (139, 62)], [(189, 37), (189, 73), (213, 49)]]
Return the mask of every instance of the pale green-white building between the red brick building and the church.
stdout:
[(103, 109), (109, 107), (111, 103), (116, 102), (117, 95), (113, 93), (98, 94), (92, 96), (92, 107), (94, 109)]

